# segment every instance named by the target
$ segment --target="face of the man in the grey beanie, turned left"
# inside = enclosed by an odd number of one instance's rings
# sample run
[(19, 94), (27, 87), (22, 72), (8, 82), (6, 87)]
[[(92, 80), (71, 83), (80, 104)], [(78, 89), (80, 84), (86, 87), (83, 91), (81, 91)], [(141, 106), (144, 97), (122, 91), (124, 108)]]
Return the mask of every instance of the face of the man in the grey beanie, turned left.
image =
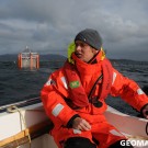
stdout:
[(76, 41), (75, 54), (78, 58), (88, 62), (98, 53), (96, 49), (92, 48), (90, 45), (81, 41)]

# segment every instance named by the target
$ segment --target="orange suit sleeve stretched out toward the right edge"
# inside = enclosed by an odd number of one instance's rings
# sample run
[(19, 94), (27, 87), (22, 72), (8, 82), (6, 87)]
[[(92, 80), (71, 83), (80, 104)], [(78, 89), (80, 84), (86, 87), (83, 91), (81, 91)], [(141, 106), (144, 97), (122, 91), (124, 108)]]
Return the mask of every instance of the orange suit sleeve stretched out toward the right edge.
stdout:
[(124, 77), (117, 70), (113, 69), (113, 82), (111, 95), (121, 96), (125, 102), (140, 111), (148, 103), (148, 96), (132, 79)]

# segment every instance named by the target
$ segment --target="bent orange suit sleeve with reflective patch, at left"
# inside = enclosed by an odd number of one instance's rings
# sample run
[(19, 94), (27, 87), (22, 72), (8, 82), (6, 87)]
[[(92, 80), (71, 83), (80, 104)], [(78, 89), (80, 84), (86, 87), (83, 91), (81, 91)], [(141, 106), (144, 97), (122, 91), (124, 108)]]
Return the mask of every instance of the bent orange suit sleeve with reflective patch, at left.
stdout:
[(71, 118), (79, 115), (67, 105), (64, 94), (58, 89), (64, 90), (60, 79), (55, 79), (50, 76), (41, 91), (41, 98), (45, 112), (53, 123), (67, 126)]

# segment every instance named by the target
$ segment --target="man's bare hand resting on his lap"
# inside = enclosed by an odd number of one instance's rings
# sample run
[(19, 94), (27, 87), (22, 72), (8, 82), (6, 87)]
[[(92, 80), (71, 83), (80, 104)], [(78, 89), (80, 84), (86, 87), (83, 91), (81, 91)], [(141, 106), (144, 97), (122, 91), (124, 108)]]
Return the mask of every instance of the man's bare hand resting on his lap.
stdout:
[(79, 129), (79, 130), (90, 130), (91, 125), (86, 119), (81, 117), (76, 117), (73, 119), (72, 128)]

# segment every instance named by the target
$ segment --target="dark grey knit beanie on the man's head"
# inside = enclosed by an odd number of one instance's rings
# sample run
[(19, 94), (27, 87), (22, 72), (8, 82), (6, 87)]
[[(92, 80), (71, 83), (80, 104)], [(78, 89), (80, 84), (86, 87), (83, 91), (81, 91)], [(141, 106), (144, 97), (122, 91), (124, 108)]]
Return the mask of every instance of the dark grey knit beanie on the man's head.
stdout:
[(84, 42), (96, 50), (99, 50), (102, 46), (102, 38), (100, 34), (98, 33), (98, 31), (92, 29), (86, 29), (79, 32), (75, 37), (75, 42), (76, 41)]

